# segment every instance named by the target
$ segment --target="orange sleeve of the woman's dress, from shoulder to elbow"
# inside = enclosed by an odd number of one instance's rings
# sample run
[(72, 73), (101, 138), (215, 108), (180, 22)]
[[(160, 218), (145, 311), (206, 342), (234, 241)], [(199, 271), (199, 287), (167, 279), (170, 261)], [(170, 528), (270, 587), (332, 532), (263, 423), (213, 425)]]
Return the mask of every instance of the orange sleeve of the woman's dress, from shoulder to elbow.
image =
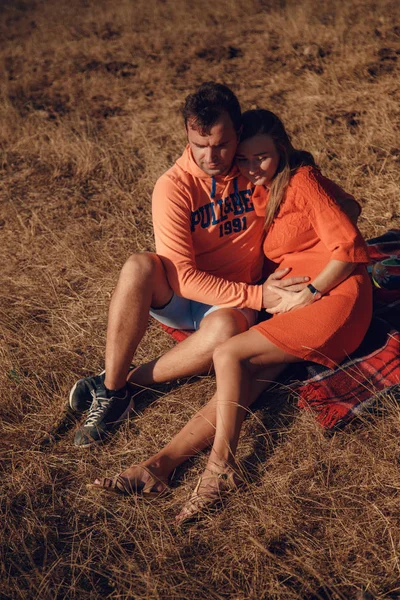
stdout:
[(367, 245), (349, 217), (332, 195), (330, 180), (317, 169), (295, 175), (296, 202), (310, 219), (311, 225), (331, 258), (343, 262), (368, 263)]

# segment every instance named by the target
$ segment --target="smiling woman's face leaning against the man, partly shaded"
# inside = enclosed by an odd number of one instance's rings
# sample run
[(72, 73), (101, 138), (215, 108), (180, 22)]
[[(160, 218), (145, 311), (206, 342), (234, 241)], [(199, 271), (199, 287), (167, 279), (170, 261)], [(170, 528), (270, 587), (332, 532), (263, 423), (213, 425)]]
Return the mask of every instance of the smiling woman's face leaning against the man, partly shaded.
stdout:
[(255, 185), (270, 187), (278, 169), (280, 155), (270, 135), (260, 133), (240, 142), (236, 163), (242, 175)]

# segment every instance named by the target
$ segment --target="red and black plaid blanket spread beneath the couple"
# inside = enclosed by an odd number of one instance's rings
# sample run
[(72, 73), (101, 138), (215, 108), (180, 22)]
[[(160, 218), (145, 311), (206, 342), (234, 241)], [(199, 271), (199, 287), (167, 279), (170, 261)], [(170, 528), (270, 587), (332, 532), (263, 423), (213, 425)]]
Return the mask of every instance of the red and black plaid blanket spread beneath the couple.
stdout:
[[(369, 240), (372, 263), (387, 257), (400, 258), (400, 231), (390, 230)], [(162, 326), (181, 342), (191, 332)], [(358, 350), (337, 369), (301, 363), (285, 371), (302, 409), (313, 410), (327, 429), (348, 423), (375, 400), (377, 395), (400, 393), (400, 289), (374, 289), (374, 316)]]

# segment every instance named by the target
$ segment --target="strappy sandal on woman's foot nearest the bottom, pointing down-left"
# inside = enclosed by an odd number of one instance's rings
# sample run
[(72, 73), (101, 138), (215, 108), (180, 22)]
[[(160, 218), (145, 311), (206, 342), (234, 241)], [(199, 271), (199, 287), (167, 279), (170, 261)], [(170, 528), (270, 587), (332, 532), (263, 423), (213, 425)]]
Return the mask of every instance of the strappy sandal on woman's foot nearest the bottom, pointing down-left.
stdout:
[[(217, 479), (217, 486), (214, 488), (203, 489), (199, 494), (201, 484), (207, 479)], [(200, 517), (209, 508), (214, 508), (222, 503), (223, 499), (236, 491), (243, 481), (239, 479), (237, 473), (230, 469), (225, 473), (210, 473), (202, 475), (189, 500), (185, 502), (181, 512), (176, 517), (178, 525), (182, 525), (195, 518)], [(184, 513), (182, 515), (182, 513)], [(182, 515), (182, 517), (180, 517)]]

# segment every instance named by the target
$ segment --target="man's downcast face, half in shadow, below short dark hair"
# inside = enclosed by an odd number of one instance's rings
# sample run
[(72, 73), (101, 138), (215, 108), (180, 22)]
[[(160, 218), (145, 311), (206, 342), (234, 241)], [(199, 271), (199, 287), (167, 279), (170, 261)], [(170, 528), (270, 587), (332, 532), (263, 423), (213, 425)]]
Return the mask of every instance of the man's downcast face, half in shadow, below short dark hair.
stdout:
[(228, 113), (223, 113), (202, 135), (196, 129), (187, 126), (189, 146), (196, 164), (211, 177), (225, 175), (232, 166), (238, 144), (238, 136)]

